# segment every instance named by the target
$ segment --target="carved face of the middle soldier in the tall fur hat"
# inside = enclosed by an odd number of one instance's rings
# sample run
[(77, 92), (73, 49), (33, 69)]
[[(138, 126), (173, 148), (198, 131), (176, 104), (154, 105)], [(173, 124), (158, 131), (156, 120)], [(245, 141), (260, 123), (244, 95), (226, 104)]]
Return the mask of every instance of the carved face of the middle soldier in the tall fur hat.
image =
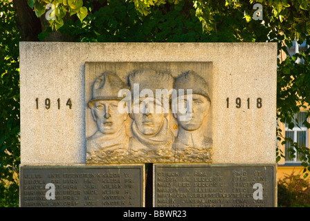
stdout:
[(140, 111), (139, 113), (133, 113), (134, 123), (144, 135), (156, 135), (165, 119), (161, 102), (156, 99), (140, 98), (138, 103)]

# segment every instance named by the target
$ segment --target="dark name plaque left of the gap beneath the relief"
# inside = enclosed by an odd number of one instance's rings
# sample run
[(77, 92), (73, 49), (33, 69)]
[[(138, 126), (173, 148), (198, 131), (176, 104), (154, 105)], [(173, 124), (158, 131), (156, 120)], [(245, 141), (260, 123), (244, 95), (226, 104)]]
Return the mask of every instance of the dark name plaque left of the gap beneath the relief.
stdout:
[(144, 204), (143, 165), (21, 166), (20, 206), (140, 207)]

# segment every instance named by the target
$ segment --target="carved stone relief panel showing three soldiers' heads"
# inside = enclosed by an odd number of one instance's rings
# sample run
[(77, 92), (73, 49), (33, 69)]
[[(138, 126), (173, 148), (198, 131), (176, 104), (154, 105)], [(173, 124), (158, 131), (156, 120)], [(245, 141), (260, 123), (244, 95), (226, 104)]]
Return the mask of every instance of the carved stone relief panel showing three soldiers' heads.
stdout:
[(86, 62), (86, 163), (212, 162), (211, 62)]

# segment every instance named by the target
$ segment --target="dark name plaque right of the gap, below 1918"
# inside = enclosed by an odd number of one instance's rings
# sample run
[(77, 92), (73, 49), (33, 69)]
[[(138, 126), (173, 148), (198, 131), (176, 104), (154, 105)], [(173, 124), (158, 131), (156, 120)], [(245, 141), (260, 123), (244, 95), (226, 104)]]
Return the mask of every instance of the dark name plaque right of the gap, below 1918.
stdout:
[(275, 206), (275, 165), (154, 164), (156, 207)]

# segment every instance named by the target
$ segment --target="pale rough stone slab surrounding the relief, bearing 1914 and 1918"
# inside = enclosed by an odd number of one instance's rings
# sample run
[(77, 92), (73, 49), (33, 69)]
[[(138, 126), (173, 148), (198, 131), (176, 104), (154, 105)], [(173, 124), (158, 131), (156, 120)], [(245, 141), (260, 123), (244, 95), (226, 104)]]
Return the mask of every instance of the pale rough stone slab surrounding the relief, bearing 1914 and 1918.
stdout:
[(21, 42), (21, 164), (86, 162), (89, 61), (212, 62), (212, 163), (274, 163), (276, 59), (270, 43)]

